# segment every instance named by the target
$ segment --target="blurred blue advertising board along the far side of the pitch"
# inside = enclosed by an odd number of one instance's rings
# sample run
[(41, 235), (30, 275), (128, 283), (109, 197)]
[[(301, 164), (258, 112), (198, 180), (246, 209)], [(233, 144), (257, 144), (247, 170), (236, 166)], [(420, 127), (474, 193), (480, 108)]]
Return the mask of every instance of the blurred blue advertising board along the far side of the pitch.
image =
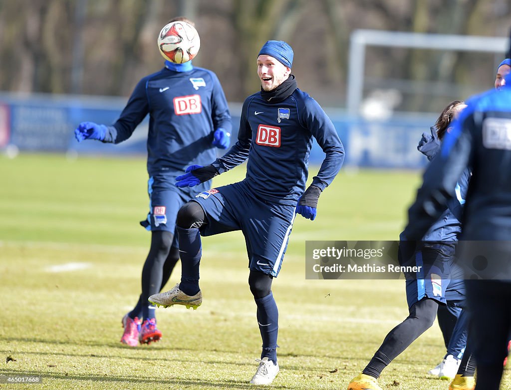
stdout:
[[(111, 124), (117, 120), (126, 98), (100, 96), (0, 94), (0, 148), (15, 145), (21, 151), (69, 150), (89, 154), (145, 154), (149, 120), (131, 138), (118, 144), (78, 143), (74, 129), (82, 121)], [(229, 105), (233, 116), (233, 142), (237, 137), (241, 105)], [(331, 110), (334, 112), (334, 110)], [(434, 117), (393, 117), (364, 120), (327, 110), (346, 151), (345, 165), (374, 168), (421, 168), (426, 158), (416, 145), (429, 131)], [(319, 164), (324, 153), (314, 141), (310, 155)]]

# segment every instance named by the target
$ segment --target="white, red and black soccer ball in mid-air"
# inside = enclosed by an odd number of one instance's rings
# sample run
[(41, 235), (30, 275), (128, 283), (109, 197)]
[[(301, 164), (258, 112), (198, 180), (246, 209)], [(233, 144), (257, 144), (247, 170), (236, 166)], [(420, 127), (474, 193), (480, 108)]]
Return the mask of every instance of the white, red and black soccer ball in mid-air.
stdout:
[(184, 21), (170, 22), (158, 35), (161, 55), (175, 64), (190, 61), (197, 55), (199, 48), (199, 33), (193, 25)]

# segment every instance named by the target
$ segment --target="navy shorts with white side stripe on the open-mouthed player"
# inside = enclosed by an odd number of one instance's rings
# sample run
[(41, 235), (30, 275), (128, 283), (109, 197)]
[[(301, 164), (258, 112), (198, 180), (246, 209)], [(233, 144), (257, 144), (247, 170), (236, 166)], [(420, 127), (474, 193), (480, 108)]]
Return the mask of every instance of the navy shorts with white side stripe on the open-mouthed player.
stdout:
[(245, 181), (208, 190), (193, 201), (202, 206), (207, 223), (201, 236), (241, 230), (245, 236), (248, 268), (276, 277), (281, 269), (296, 206), (260, 199)]

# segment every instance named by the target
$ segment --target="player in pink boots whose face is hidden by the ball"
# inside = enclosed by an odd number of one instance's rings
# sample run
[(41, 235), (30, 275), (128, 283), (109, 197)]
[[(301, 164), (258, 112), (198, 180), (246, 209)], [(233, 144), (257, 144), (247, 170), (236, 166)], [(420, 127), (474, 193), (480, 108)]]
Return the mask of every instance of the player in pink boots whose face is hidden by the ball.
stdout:
[[(178, 17), (172, 21), (185, 21)], [(145, 76), (135, 86), (119, 119), (111, 126), (82, 122), (75, 130), (78, 142), (96, 139), (118, 144), (128, 139), (149, 114), (147, 172), (149, 214), (141, 222), (151, 231), (151, 246), (142, 269), (142, 294), (122, 319), (121, 342), (135, 347), (161, 339), (155, 307), (147, 299), (169, 280), (179, 260), (176, 215), (179, 207), (210, 181), (197, 188), (177, 188), (177, 176), (190, 164), (206, 164), (216, 158), (215, 147), (230, 142), (231, 118), (224, 92), (215, 73), (192, 62), (165, 62), (160, 71)], [(143, 321), (143, 322), (142, 322)]]

